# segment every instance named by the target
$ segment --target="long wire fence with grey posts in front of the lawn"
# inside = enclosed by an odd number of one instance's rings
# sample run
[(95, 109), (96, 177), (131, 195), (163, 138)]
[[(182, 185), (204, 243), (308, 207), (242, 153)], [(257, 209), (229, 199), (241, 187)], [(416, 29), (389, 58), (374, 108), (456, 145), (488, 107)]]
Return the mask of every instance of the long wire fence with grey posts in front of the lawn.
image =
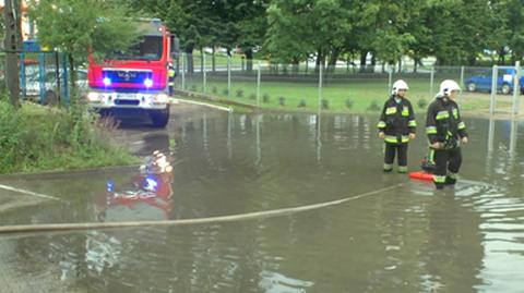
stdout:
[(519, 70), (499, 68), (498, 77), (492, 72), (492, 68), (413, 64), (398, 68), (345, 63), (321, 68), (314, 62), (276, 64), (248, 62), (237, 56), (181, 54), (176, 88), (262, 108), (373, 111), (381, 108), (396, 80), (408, 83), (408, 97), (418, 109), (426, 109), (442, 81), (454, 80), (463, 88), (460, 98), (466, 101), (465, 110), (491, 108), (491, 112), (515, 113), (519, 108), (513, 103), (519, 98), (511, 95), (514, 88), (519, 95), (521, 91), (522, 83), (513, 86)]

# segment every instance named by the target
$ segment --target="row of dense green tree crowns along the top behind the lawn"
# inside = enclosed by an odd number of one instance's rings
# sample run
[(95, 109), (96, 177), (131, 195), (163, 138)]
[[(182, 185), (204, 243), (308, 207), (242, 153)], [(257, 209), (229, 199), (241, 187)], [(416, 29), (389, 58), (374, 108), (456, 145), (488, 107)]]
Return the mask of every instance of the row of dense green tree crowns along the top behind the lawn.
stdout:
[(311, 56), (329, 64), (366, 60), (370, 53), (386, 63), (407, 54), (415, 60), (434, 56), (438, 64), (473, 64), (486, 50), (496, 51), (491, 57), (500, 62), (524, 54), (521, 0), (126, 2), (165, 20), (187, 52), (240, 47), (249, 59), (260, 47), (258, 54), (272, 62), (293, 64)]

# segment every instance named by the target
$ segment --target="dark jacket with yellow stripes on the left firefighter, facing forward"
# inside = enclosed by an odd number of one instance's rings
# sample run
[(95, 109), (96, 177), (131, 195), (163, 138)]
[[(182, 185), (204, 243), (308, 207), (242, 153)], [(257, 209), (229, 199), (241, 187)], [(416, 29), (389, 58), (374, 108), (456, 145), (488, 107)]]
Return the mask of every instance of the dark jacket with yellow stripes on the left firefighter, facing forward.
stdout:
[(391, 96), (384, 103), (377, 126), (379, 131), (384, 132), (384, 141), (386, 143), (408, 143), (409, 133), (415, 133), (417, 127), (415, 113), (409, 100), (404, 98), (396, 102), (394, 96)]

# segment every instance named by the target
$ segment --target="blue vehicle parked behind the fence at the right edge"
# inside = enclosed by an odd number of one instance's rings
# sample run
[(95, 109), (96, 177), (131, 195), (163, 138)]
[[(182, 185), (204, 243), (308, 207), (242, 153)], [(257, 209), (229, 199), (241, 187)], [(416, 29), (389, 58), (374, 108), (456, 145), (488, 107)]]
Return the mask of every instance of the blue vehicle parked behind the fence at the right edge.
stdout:
[[(497, 73), (497, 91), (504, 95), (513, 93), (515, 69), (503, 68)], [(464, 82), (468, 91), (491, 91), (492, 71), (486, 70), (471, 76)], [(520, 80), (521, 93), (524, 93), (524, 77)]]

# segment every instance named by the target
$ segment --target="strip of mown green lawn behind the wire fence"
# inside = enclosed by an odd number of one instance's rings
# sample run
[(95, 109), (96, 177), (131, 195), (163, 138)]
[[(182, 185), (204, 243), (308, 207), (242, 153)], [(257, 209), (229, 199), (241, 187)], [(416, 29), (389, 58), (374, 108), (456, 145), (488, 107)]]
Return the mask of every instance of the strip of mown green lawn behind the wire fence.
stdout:
[[(202, 90), (199, 82), (188, 81), (187, 88), (198, 88)], [(427, 105), (433, 99), (430, 95), (430, 85), (424, 81), (409, 82), (407, 98), (416, 112), (425, 112)], [(230, 95), (227, 95), (227, 82), (207, 82), (207, 95), (216, 96), (223, 102), (235, 101), (246, 105), (257, 106), (257, 99), (248, 97), (257, 96), (255, 82), (231, 82)], [(211, 88), (216, 88), (212, 93)], [(235, 95), (242, 90), (242, 97)], [(437, 90), (437, 85), (434, 85)], [(433, 90), (433, 91), (434, 91)], [(263, 99), (269, 97), (269, 100)], [(388, 81), (373, 81), (352, 84), (327, 84), (322, 88), (322, 101), (319, 103), (319, 88), (313, 83), (289, 83), (289, 82), (265, 82), (260, 89), (260, 107), (266, 110), (284, 110), (299, 112), (318, 111), (319, 105), (329, 105), (329, 108), (322, 107), (324, 112), (347, 112), (347, 113), (367, 113), (378, 112), (389, 96)], [(285, 97), (283, 105), (281, 97)], [(347, 100), (350, 100), (349, 107)], [(463, 110), (486, 110), (489, 109), (489, 95), (481, 93), (462, 93), (457, 99)], [(376, 105), (379, 105), (377, 110)], [(299, 107), (300, 106), (300, 107)], [(499, 102), (499, 106), (504, 106)]]

